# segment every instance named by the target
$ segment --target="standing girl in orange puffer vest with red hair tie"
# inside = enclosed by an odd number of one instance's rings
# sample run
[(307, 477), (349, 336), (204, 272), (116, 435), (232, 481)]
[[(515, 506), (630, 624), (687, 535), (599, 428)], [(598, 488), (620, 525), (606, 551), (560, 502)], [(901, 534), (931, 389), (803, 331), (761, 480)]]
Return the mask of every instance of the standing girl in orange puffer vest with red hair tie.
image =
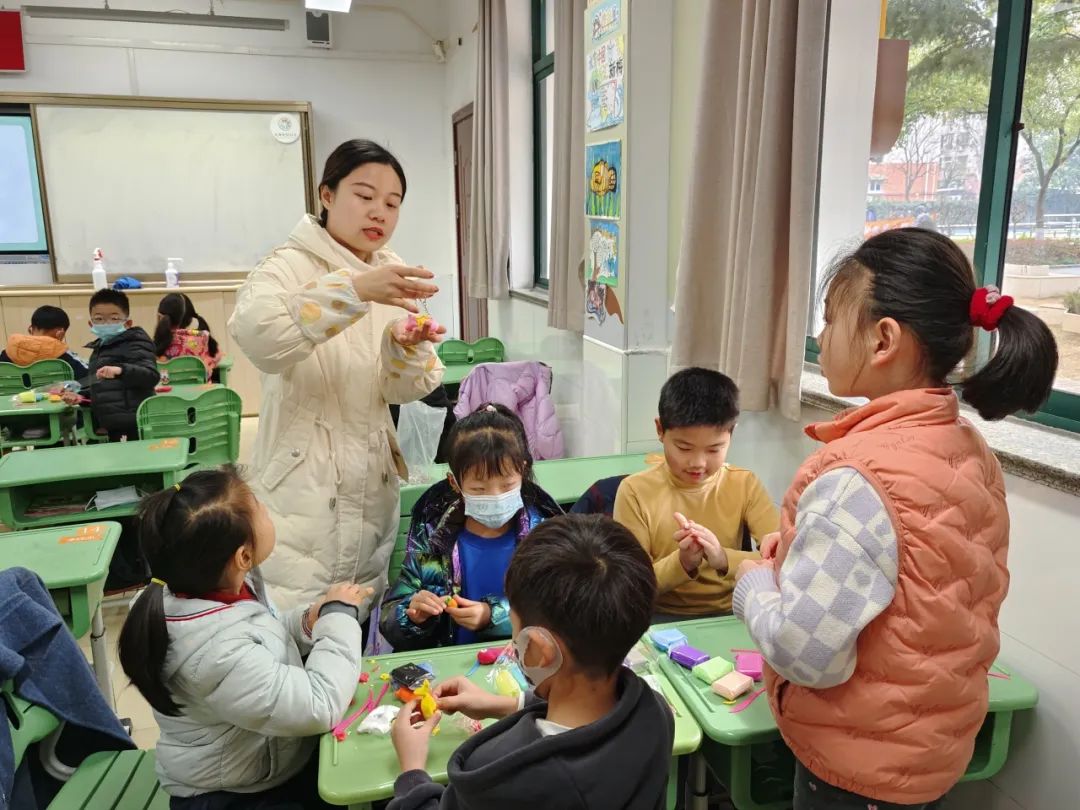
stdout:
[(769, 664), (796, 810), (927, 808), (971, 760), (1009, 589), (1001, 465), (947, 378), (974, 328), (996, 330), (961, 395), (985, 419), (1034, 411), (1057, 349), (931, 231), (867, 240), (827, 285), (822, 374), (869, 402), (807, 429), (825, 446), (796, 474), (765, 559), (740, 566), (735, 613)]

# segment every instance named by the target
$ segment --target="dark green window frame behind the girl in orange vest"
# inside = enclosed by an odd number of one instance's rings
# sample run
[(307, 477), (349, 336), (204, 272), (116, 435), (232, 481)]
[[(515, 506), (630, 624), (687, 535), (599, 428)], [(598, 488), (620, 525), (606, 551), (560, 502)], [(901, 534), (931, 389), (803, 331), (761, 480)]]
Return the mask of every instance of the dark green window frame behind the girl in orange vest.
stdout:
[[(980, 286), (995, 284), (1000, 287), (1004, 279), (1009, 210), (1016, 145), (1023, 123), (1021, 111), (1032, 5), (1032, 0), (999, 0), (998, 4), (978, 217), (975, 222), (975, 283)], [(980, 336), (980, 347), (984, 352), (988, 351), (989, 335)], [(808, 335), (807, 362), (819, 364), (820, 354), (818, 339)], [(1016, 416), (1080, 433), (1080, 395), (1055, 389), (1038, 413)]]

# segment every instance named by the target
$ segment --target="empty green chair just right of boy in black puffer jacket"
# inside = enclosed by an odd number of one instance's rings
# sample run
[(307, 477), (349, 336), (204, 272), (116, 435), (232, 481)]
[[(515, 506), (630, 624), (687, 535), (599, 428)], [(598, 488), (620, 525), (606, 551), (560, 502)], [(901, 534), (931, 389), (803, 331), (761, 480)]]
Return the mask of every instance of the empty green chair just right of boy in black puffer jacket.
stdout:
[[(198, 357), (194, 357), (198, 360)], [(138, 406), (140, 438), (188, 440), (188, 467), (234, 463), (240, 457), (240, 394), (211, 388), (194, 400), (158, 394)]]

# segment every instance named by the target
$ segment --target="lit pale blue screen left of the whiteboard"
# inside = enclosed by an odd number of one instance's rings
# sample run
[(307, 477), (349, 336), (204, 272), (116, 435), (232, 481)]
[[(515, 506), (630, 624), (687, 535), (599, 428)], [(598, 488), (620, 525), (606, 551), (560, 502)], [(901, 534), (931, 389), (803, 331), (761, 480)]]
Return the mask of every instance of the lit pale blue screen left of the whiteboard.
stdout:
[(0, 254), (48, 251), (30, 117), (0, 116)]

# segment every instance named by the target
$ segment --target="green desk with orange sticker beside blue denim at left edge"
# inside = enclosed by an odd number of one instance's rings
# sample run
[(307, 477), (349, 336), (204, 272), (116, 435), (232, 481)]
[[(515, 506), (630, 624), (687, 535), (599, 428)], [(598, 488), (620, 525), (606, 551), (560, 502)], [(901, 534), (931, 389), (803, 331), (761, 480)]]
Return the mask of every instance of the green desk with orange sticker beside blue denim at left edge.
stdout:
[(19, 566), (37, 573), (71, 634), (82, 638), (92, 631), (94, 674), (110, 706), (112, 686), (102, 597), (119, 542), (120, 524), (107, 522), (0, 534), (0, 569)]

